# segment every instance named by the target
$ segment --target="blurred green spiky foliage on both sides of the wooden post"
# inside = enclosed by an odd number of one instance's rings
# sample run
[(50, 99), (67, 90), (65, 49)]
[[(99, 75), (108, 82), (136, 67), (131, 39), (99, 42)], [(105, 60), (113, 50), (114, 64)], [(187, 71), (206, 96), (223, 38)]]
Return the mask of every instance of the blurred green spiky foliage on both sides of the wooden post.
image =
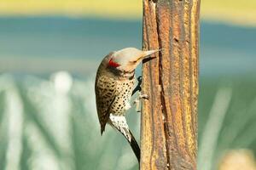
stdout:
[[(201, 82), (198, 167), (204, 170), (218, 169), (227, 150), (256, 150), (255, 83), (214, 82)], [(137, 137), (139, 116), (128, 114)], [(113, 129), (100, 135), (93, 78), (65, 71), (49, 80), (0, 76), (0, 169), (137, 168), (122, 136)]]

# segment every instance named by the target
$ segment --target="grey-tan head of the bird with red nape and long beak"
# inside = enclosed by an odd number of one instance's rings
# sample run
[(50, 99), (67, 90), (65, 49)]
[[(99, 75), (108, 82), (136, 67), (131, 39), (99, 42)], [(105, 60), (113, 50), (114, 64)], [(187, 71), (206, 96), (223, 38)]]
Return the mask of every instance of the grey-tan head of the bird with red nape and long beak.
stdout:
[(142, 51), (137, 48), (124, 48), (113, 52), (112, 57), (108, 60), (108, 66), (114, 67), (119, 71), (130, 72), (134, 71), (143, 59), (150, 57), (160, 49)]

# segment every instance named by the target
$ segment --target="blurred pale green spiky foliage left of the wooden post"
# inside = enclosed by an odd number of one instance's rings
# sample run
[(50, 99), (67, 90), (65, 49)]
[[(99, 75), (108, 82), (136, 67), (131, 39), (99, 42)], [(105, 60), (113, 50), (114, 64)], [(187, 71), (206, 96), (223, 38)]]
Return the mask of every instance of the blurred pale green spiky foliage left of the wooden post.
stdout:
[(0, 169), (136, 169), (125, 139), (100, 135), (92, 80), (1, 76)]

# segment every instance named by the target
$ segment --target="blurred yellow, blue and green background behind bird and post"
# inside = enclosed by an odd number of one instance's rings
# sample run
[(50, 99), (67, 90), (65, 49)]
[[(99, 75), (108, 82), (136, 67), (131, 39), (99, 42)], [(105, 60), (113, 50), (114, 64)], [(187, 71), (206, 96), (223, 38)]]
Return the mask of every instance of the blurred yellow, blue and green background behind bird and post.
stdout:
[[(256, 169), (255, 8), (201, 1), (199, 169)], [(119, 133), (100, 135), (94, 78), (111, 50), (141, 48), (142, 11), (138, 0), (0, 1), (0, 169), (138, 168)]]

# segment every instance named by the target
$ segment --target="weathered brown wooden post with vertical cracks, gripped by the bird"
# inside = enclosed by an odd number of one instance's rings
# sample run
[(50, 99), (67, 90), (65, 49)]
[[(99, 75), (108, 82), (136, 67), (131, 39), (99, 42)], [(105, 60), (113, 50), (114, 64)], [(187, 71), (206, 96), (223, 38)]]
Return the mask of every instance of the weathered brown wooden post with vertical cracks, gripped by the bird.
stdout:
[(141, 169), (196, 169), (200, 0), (143, 0)]

